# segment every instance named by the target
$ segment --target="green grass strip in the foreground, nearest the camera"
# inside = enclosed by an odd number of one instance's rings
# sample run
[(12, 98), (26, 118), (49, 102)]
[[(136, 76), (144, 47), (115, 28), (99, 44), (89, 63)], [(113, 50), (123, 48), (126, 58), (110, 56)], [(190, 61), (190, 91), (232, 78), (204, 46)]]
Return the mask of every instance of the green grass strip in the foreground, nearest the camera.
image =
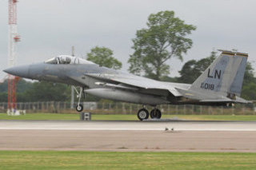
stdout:
[(255, 169), (256, 153), (0, 151), (0, 169)]

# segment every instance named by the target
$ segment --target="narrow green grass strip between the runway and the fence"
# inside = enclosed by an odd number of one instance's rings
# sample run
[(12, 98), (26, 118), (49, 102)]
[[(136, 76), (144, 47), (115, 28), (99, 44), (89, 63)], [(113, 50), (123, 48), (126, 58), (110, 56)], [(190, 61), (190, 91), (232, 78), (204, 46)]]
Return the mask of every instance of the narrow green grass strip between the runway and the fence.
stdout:
[[(162, 118), (178, 118), (194, 121), (256, 121), (256, 115), (163, 115)], [(79, 114), (59, 114), (59, 113), (27, 113), (21, 116), (7, 116), (0, 113), (0, 120), (59, 120), (78, 121)], [(138, 121), (136, 115), (92, 115), (93, 121)]]

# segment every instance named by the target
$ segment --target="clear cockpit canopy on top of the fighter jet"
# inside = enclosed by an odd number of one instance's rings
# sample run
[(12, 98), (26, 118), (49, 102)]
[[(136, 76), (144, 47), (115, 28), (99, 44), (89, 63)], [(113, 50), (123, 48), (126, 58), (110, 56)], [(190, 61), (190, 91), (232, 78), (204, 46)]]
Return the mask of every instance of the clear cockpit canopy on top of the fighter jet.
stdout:
[(94, 62), (87, 61), (85, 59), (82, 59), (81, 57), (74, 57), (69, 55), (59, 55), (57, 57), (53, 57), (53, 58), (50, 58), (49, 60), (46, 60), (45, 63), (53, 64), (53, 65), (94, 64)]

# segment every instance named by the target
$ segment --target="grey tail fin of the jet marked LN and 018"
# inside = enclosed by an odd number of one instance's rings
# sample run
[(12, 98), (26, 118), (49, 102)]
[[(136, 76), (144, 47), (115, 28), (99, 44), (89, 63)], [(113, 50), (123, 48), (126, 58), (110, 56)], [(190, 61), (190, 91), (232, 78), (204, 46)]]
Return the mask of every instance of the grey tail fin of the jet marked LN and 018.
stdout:
[(248, 54), (219, 50), (222, 53), (190, 86), (198, 93), (214, 93), (235, 99), (240, 96)]

